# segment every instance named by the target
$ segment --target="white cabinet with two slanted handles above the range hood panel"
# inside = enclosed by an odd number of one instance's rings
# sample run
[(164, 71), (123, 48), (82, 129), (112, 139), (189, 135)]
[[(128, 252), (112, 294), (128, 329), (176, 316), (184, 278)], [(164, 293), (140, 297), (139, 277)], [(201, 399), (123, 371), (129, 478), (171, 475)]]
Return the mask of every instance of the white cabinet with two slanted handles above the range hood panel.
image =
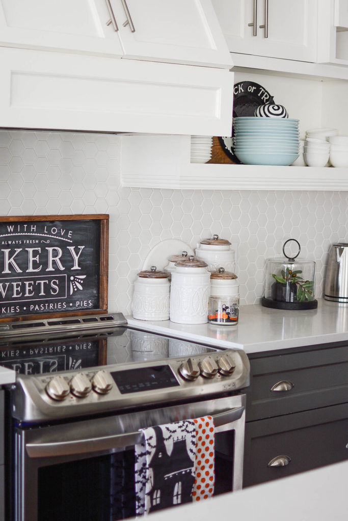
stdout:
[(210, 0), (0, 0), (0, 45), (232, 67)]

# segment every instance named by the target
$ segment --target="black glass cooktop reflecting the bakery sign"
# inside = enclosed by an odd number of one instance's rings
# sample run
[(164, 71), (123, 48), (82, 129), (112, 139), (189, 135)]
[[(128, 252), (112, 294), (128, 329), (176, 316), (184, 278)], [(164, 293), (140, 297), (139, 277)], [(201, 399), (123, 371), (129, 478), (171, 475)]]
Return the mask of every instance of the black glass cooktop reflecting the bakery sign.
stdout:
[(0, 365), (22, 375), (131, 362), (177, 358), (220, 351), (186, 340), (118, 326), (107, 331), (0, 338)]

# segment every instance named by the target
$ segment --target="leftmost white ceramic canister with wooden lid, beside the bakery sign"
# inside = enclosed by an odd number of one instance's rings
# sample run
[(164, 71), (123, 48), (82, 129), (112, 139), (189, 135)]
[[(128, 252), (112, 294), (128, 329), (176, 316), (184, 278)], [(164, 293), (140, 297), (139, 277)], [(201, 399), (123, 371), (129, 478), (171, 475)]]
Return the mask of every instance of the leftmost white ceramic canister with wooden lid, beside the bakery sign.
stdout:
[(140, 271), (134, 283), (132, 312), (139, 320), (168, 320), (170, 283), (168, 274), (156, 271)]

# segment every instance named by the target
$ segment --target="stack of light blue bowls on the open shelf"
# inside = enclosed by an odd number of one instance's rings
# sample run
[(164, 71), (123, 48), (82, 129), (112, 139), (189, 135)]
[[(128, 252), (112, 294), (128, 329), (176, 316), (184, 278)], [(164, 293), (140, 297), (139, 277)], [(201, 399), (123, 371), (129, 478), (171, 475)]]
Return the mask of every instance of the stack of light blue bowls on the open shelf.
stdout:
[(244, 165), (291, 165), (299, 155), (298, 119), (233, 118), (234, 154)]

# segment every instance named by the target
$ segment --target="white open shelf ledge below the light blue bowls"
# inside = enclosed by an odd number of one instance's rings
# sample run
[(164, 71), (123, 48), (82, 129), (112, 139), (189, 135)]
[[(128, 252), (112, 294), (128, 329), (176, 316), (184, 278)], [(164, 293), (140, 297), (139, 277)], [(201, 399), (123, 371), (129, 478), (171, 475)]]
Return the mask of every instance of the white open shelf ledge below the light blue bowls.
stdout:
[(124, 135), (124, 187), (177, 190), (348, 190), (348, 168), (191, 164), (190, 136)]

